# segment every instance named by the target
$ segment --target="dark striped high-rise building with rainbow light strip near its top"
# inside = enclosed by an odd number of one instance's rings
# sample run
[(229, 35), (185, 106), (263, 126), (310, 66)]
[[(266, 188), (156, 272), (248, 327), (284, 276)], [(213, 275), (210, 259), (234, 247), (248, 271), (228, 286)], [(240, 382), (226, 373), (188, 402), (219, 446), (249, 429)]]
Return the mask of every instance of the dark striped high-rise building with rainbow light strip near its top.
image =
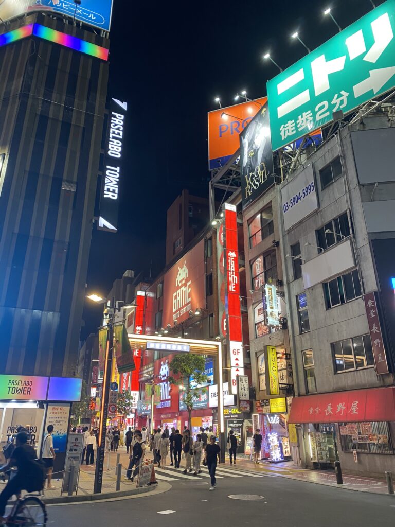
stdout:
[(0, 373), (75, 373), (108, 80), (101, 35), (42, 13), (0, 24)]

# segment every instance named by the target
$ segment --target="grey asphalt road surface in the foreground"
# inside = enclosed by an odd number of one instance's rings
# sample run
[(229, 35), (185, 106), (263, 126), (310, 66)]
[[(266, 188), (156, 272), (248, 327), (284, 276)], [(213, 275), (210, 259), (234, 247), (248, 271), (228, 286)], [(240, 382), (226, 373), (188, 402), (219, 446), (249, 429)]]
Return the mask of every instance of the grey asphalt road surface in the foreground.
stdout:
[[(270, 527), (374, 527), (393, 525), (395, 497), (355, 492), (283, 477), (223, 477), (169, 482), (172, 489), (138, 499), (48, 507), (48, 525), (266, 525)], [(264, 496), (232, 500), (230, 494)], [(160, 511), (172, 510), (170, 514)]]

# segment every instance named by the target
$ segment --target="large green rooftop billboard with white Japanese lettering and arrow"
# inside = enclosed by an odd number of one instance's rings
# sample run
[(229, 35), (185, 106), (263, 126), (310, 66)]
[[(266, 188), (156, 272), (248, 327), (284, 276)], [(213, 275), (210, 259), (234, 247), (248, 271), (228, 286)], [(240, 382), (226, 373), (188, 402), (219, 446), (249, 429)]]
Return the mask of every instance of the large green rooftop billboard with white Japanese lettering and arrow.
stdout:
[(267, 84), (273, 151), (395, 86), (395, 0), (387, 0)]

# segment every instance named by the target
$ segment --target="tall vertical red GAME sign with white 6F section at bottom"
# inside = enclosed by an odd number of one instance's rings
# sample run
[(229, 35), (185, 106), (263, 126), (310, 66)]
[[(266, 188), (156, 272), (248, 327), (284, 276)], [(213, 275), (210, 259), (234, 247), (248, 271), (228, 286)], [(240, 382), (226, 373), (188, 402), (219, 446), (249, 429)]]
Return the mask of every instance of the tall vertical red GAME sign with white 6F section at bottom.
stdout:
[(226, 343), (230, 353), (232, 394), (237, 393), (236, 377), (244, 375), (237, 229), (236, 207), (225, 203)]

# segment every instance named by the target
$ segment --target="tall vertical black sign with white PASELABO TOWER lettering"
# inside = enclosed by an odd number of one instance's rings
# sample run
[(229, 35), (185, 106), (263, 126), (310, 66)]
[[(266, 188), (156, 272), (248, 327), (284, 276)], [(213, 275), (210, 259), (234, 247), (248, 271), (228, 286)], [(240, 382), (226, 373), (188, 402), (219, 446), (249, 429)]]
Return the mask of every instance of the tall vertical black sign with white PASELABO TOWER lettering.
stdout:
[(122, 179), (123, 141), (127, 103), (111, 99), (108, 114), (108, 131), (100, 217), (98, 229), (110, 232), (118, 230), (119, 184)]

